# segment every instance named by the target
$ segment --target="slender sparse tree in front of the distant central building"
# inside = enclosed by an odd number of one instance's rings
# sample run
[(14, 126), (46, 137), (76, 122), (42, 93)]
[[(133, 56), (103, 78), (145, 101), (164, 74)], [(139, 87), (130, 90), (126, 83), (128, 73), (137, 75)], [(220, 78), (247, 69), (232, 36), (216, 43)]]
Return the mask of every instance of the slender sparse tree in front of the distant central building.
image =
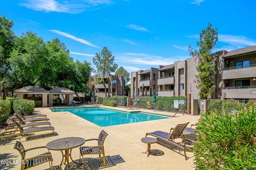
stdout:
[[(106, 78), (110, 81), (111, 73), (115, 72), (117, 69), (115, 56), (111, 54), (107, 47), (103, 47), (101, 53), (96, 53), (95, 57), (93, 57), (93, 63), (97, 68), (95, 73), (102, 76), (102, 78), (100, 77), (100, 81), (103, 82), (105, 96), (107, 97), (107, 88), (104, 80)], [(95, 81), (99, 81), (98, 78)]]

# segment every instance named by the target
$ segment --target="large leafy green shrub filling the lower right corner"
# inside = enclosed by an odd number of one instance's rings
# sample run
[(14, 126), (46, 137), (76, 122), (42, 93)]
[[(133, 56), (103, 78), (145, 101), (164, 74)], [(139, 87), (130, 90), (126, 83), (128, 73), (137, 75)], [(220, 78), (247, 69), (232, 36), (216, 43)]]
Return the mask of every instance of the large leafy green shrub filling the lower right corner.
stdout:
[(196, 132), (197, 170), (256, 168), (256, 107), (202, 114)]

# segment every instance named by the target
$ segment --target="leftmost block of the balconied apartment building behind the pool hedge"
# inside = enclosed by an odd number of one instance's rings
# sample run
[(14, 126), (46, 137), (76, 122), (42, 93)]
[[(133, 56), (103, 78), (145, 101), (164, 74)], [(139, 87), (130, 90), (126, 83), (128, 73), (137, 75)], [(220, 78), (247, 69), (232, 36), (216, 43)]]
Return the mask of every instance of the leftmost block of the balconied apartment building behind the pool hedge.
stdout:
[(158, 89), (157, 79), (157, 68), (131, 72), (131, 97), (152, 96), (154, 89)]

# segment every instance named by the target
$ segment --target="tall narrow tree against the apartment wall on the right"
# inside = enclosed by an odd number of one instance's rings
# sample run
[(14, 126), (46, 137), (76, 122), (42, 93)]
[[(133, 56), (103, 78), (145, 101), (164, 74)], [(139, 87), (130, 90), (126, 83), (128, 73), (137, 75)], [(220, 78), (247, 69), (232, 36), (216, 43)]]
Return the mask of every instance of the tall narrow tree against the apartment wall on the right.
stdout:
[(201, 99), (207, 99), (212, 95), (215, 88), (213, 83), (213, 77), (215, 75), (215, 61), (216, 56), (212, 55), (212, 49), (218, 41), (218, 31), (212, 28), (209, 23), (207, 28), (200, 33), (200, 41), (197, 42), (199, 51), (193, 50), (189, 47), (190, 55), (198, 57), (198, 65), (196, 70), (198, 71), (197, 79), (199, 89), (199, 97)]

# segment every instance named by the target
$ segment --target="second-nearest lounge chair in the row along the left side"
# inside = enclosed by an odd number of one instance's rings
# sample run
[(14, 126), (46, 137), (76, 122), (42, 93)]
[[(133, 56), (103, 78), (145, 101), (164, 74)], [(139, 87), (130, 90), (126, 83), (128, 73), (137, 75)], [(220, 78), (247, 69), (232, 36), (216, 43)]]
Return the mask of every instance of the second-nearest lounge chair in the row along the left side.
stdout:
[[(22, 121), (22, 119), (19, 116), (17, 116), (17, 118), (18, 118), (18, 121), (19, 121), (19, 124), (20, 124), (21, 128), (27, 128), (27, 127), (33, 127), (33, 126), (42, 126), (42, 125), (50, 125), (51, 126), (51, 122), (42, 122), (42, 121), (40, 121), (40, 122), (25, 123), (24, 121)], [(12, 123), (9, 123), (9, 125), (4, 130), (4, 133), (9, 133), (10, 132), (9, 130), (15, 131), (14, 129), (18, 128), (17, 125), (15, 125), (15, 122), (13, 122), (13, 120), (11, 118), (9, 118), (9, 120)]]

